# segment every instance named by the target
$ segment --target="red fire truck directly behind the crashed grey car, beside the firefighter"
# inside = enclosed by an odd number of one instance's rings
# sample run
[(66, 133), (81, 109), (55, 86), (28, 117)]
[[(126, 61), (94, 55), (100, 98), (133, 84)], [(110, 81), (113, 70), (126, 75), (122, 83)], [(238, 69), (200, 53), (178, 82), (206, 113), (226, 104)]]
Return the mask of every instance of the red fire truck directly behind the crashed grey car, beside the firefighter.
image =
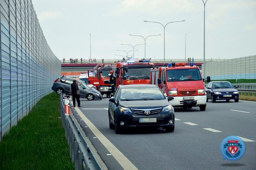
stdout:
[(110, 96), (111, 86), (109, 83), (109, 71), (112, 70), (111, 65), (96, 65), (93, 70), (88, 70), (88, 83), (93, 84), (102, 96), (106, 94)]

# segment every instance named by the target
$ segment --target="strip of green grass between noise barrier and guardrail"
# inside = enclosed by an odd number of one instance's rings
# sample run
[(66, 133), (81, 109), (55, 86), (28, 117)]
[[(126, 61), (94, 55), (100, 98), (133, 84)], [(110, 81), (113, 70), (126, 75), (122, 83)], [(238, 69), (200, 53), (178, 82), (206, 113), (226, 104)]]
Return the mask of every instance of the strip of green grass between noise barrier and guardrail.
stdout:
[(74, 169), (59, 112), (59, 96), (42, 98), (0, 141), (0, 169)]

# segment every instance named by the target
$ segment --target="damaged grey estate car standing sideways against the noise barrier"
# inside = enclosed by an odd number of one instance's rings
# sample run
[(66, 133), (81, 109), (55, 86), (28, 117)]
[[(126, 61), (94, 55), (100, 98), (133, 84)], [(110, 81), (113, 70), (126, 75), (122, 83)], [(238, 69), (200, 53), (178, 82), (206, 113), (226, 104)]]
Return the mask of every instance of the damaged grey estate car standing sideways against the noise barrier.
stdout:
[[(52, 90), (56, 91), (58, 95), (61, 93), (69, 94), (70, 85), (73, 83), (72, 77), (59, 77), (57, 78), (52, 86)], [(102, 95), (100, 92), (94, 88), (90, 88), (82, 80), (76, 79), (81, 85), (78, 86), (80, 90), (80, 97), (87, 98), (87, 100), (101, 100)]]

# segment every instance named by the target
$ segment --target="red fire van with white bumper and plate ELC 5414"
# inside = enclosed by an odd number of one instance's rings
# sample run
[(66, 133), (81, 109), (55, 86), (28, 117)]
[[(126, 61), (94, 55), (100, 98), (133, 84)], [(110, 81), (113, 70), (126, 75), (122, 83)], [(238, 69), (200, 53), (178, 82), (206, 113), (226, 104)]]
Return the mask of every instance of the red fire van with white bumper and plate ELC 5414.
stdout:
[(206, 93), (204, 81), (198, 66), (186, 63), (169, 63), (167, 67), (152, 68), (150, 83), (157, 85), (166, 96), (173, 96), (169, 101), (173, 107), (192, 108), (199, 107), (200, 111), (206, 109)]

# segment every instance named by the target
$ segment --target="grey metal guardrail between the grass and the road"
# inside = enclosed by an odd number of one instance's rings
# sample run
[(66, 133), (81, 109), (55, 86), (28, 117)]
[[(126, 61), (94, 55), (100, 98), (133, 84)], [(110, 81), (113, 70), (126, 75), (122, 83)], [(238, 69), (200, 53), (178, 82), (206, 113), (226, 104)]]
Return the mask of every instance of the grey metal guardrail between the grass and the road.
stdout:
[(89, 138), (86, 137), (85, 132), (81, 128), (80, 124), (76, 120), (72, 111), (70, 116), (65, 116), (64, 101), (62, 95), (59, 95), (60, 102), (60, 115), (62, 121), (62, 127), (65, 129), (65, 135), (69, 144), (69, 154), (72, 162), (75, 164), (75, 170), (86, 169), (104, 170), (107, 169), (102, 163), (100, 156), (98, 155), (93, 144)]

